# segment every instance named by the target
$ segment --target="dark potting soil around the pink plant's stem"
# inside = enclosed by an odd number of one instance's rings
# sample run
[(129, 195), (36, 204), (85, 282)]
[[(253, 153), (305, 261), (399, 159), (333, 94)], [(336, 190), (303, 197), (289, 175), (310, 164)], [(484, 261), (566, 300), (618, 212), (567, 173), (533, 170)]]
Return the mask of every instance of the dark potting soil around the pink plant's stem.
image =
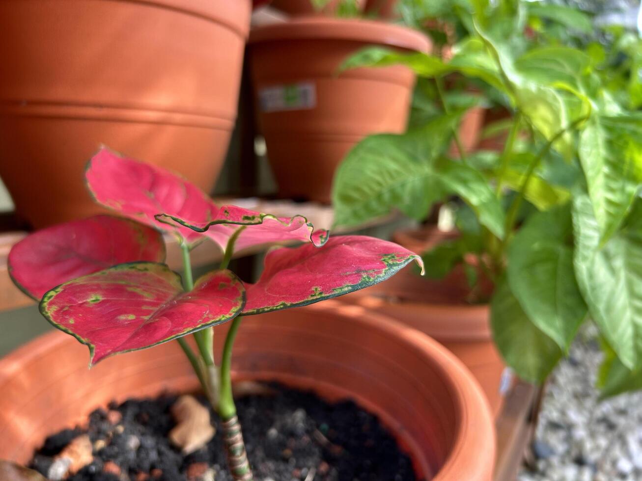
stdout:
[[(311, 392), (271, 388), (273, 395), (249, 395), (236, 402), (257, 481), (415, 480), (410, 458), (399, 451), (376, 416), (352, 401), (330, 404)], [(76, 428), (50, 436), (31, 468), (46, 476), (53, 456), (87, 432), (94, 444), (94, 461), (68, 480), (231, 481), (220, 435), (187, 456), (171, 446), (166, 436), (175, 425), (169, 409), (176, 399), (165, 395), (110, 405), (122, 414), (116, 425), (110, 422), (113, 412), (109, 416), (98, 409), (89, 416), (87, 430)], [(220, 432), (213, 413), (212, 419)], [(106, 462), (110, 468), (115, 463), (121, 476), (104, 472)], [(205, 468), (209, 474), (202, 477)]]

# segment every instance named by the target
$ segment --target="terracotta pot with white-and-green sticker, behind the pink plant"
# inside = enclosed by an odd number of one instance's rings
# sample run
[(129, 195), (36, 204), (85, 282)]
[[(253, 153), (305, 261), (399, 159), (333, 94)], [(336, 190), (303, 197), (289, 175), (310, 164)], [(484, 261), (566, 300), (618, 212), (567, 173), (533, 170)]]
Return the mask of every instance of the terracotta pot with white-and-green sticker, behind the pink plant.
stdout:
[(338, 73), (372, 44), (428, 51), (417, 31), (382, 22), (295, 19), (250, 33), (259, 126), (282, 197), (328, 203), (334, 170), (359, 140), (406, 128), (415, 81), (401, 65)]

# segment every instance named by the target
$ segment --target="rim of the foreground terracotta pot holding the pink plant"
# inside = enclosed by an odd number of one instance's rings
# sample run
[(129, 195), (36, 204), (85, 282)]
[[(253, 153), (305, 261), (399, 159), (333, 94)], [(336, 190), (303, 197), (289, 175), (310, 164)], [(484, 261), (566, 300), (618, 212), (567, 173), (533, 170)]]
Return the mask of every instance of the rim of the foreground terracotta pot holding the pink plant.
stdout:
[[(351, 317), (352, 322), (363, 326), (364, 329), (378, 330), (382, 335), (389, 336), (391, 341), (408, 346), (408, 349), (415, 351), (417, 356), (431, 358), (432, 368), (435, 369), (435, 372), (440, 373), (439, 378), (444, 389), (449, 392), (453, 407), (461, 414), (457, 425), (453, 428), (452, 451), (449, 452), (435, 475), (438, 479), (447, 480), (452, 478), (453, 473), (466, 475), (478, 472), (477, 468), (471, 466), (470, 453), (480, 452), (486, 448), (486, 446), (478, 446), (480, 436), (484, 437), (479, 432), (480, 419), (484, 419), (483, 424), (487, 425), (487, 429), (483, 430), (486, 434), (493, 432), (492, 420), (488, 409), (480, 412), (480, 406), (487, 405), (487, 401), (473, 376), (461, 362), (438, 342), (419, 334), (408, 326), (400, 325), (387, 316), (373, 313), (358, 306), (342, 305), (337, 301), (326, 301), (326, 304), (312, 308), (318, 309), (320, 312), (336, 310), (340, 314)], [(22, 366), (41, 357), (46, 351), (51, 350), (52, 346), (55, 347), (68, 341), (69, 338), (64, 333), (52, 331), (40, 335), (33, 341), (12, 351), (0, 359), (0, 386), (19, 375)], [(234, 366), (232, 369), (234, 370)], [(493, 462), (493, 459), (487, 460), (488, 471)], [(476, 477), (464, 478), (473, 479)]]

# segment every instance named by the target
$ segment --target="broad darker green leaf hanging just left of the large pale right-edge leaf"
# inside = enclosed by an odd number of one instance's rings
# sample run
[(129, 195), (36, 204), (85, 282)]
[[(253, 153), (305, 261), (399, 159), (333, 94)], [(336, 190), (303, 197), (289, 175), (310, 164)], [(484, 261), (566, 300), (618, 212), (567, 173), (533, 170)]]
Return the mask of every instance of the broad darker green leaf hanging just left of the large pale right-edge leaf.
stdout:
[(587, 312), (572, 241), (571, 209), (564, 205), (530, 217), (508, 249), (510, 290), (530, 321), (565, 352)]

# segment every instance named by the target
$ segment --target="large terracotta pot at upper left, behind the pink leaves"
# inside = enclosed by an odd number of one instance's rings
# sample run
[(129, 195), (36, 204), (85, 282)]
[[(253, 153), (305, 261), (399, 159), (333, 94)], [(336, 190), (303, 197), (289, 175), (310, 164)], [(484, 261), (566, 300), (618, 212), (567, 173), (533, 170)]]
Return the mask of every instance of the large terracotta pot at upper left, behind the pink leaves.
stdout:
[(236, 119), (250, 0), (0, 2), (0, 176), (35, 227), (92, 214), (107, 144), (213, 188)]

